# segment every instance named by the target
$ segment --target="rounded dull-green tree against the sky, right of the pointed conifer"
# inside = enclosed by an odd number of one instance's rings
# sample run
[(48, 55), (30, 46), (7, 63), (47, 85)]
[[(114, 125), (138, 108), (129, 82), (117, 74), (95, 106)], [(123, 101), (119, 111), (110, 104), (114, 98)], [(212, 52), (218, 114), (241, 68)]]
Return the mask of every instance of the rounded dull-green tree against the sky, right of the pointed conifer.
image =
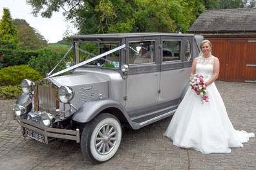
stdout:
[(14, 19), (17, 27), (19, 48), (23, 50), (37, 50), (47, 46), (47, 41), (39, 32), (32, 28), (24, 19)]

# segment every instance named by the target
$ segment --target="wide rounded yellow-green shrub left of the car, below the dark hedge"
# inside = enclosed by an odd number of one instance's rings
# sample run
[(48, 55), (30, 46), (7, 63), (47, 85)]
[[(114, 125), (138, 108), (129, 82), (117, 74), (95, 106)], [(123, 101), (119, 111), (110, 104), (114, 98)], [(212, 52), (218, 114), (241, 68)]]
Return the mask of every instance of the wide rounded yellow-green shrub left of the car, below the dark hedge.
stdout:
[(21, 84), (23, 79), (35, 81), (41, 78), (42, 76), (38, 71), (27, 65), (10, 66), (0, 70), (0, 86), (15, 86)]

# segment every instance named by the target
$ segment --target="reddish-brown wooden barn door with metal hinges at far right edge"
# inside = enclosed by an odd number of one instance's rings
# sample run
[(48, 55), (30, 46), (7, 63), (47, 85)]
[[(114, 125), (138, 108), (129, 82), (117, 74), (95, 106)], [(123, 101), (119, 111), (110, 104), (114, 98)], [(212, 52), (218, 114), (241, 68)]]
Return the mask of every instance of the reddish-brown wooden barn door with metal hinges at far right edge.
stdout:
[(246, 68), (244, 69), (246, 82), (256, 82), (256, 41), (248, 40), (246, 53)]

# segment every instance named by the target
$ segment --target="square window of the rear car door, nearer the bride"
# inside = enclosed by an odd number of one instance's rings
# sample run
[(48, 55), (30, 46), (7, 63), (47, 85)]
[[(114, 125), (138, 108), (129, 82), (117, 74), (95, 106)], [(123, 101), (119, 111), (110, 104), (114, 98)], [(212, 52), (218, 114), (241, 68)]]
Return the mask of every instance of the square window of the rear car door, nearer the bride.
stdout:
[(180, 40), (163, 41), (163, 59), (162, 62), (180, 61)]

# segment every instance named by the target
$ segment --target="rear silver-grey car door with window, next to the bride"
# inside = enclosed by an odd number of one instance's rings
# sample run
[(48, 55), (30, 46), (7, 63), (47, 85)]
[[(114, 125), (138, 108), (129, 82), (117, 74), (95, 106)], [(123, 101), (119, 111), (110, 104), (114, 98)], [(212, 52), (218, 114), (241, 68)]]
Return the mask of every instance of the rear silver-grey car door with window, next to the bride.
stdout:
[(193, 37), (161, 37), (160, 95), (158, 103), (177, 106), (191, 68)]

